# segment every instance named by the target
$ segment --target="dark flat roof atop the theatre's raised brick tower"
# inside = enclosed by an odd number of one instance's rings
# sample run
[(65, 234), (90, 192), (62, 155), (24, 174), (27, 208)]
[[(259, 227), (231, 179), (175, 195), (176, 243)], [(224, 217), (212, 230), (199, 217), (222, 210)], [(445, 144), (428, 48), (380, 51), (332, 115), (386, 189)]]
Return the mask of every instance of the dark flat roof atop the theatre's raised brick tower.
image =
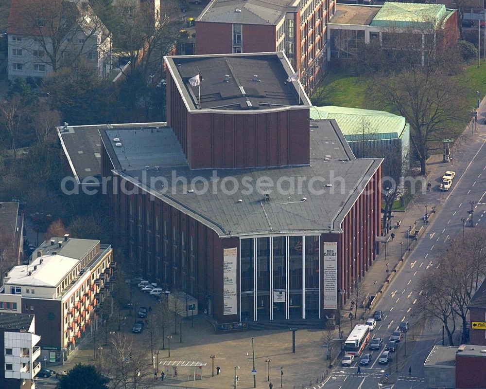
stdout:
[[(294, 70), (284, 53), (166, 56), (165, 61), (192, 112), (251, 113), (311, 105), (300, 83), (287, 82)], [(200, 84), (192, 86), (189, 80), (197, 74)]]

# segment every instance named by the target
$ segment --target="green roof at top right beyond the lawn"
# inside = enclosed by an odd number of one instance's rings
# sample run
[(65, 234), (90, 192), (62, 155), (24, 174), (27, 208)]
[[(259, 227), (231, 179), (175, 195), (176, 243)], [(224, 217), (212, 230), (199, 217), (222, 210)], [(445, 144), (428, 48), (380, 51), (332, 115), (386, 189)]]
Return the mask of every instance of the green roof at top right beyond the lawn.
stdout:
[(416, 4), (385, 2), (371, 21), (373, 27), (441, 28), (444, 19), (453, 11), (444, 4)]

